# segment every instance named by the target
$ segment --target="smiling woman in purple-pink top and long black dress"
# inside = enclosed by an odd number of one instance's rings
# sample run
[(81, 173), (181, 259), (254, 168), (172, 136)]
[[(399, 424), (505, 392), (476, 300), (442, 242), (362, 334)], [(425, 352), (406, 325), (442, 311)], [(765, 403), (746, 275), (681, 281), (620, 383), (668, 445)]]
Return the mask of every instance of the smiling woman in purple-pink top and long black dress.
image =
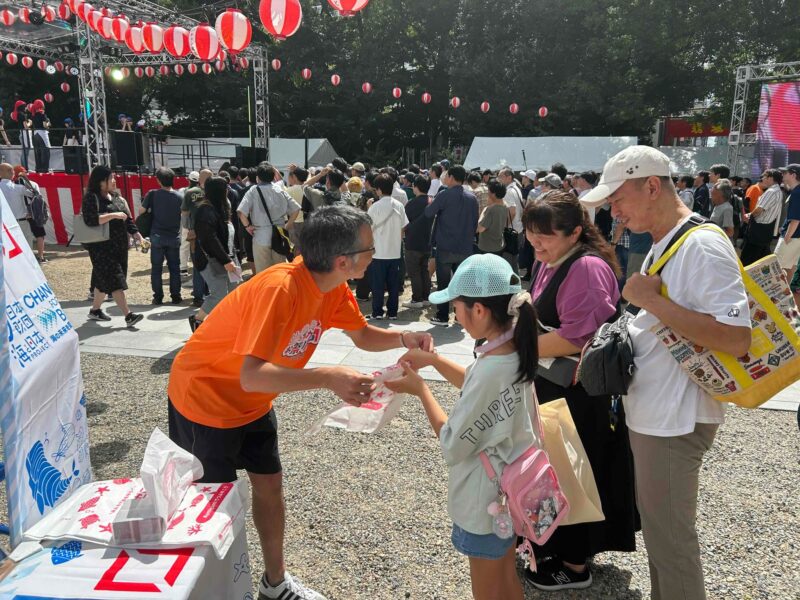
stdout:
[(574, 195), (553, 191), (523, 213), (536, 252), (531, 296), (539, 321), (539, 368), (534, 379), (540, 403), (566, 398), (592, 465), (605, 521), (561, 526), (537, 554), (537, 573), (526, 572), (542, 590), (586, 588), (588, 560), (598, 552), (634, 551), (638, 516), (633, 463), (622, 403), (590, 397), (575, 383), (576, 358), (603, 323), (619, 314), (619, 265)]

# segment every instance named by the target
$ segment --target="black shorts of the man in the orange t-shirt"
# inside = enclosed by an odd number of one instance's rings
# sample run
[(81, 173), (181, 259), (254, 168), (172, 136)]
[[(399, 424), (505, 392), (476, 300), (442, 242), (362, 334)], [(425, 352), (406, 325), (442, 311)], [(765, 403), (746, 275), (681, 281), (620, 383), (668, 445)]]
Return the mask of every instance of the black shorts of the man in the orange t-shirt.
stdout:
[(252, 423), (221, 429), (190, 421), (167, 398), (169, 437), (194, 454), (203, 465), (202, 483), (236, 480), (236, 470), (272, 475), (281, 472), (278, 454), (278, 419), (275, 409)]

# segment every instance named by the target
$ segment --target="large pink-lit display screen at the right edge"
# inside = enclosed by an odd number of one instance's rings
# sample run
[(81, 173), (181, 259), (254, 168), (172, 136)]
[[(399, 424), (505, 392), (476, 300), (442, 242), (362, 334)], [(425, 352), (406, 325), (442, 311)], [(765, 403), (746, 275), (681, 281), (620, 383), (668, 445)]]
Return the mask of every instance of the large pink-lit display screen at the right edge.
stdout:
[(800, 81), (761, 86), (752, 175), (800, 163)]

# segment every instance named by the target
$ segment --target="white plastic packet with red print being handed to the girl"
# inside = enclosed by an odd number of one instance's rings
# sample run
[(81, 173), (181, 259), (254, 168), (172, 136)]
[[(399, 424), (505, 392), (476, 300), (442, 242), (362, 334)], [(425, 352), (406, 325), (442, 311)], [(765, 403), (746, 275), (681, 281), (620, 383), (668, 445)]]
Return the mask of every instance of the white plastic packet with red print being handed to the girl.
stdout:
[(335, 427), (357, 433), (375, 433), (383, 428), (400, 411), (406, 401), (407, 394), (395, 394), (386, 387), (385, 382), (400, 379), (403, 376), (403, 367), (393, 365), (380, 371), (375, 371), (375, 390), (361, 406), (351, 406), (342, 403), (311, 427), (306, 430), (306, 435), (319, 433), (323, 427)]

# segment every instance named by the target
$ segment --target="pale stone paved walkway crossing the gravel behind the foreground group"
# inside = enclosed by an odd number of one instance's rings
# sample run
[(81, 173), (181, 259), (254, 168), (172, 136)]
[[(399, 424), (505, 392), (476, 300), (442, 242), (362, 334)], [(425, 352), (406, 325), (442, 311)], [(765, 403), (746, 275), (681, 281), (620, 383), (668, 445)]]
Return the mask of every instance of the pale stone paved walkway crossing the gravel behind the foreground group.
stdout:
[[(113, 303), (103, 305), (112, 317), (108, 322), (88, 321), (86, 302), (64, 302), (62, 307), (78, 332), (82, 352), (117, 354), (125, 356), (144, 356), (148, 358), (172, 358), (189, 339), (187, 318), (194, 314), (195, 308), (183, 306), (131, 306), (131, 310), (141, 312), (145, 318), (136, 330), (129, 330)], [(402, 314), (402, 313), (401, 313)], [(429, 331), (435, 340), (437, 352), (461, 365), (469, 365), (472, 360), (473, 342), (469, 335), (458, 326), (436, 327), (418, 321), (378, 321), (379, 327), (410, 331)], [(363, 373), (371, 373), (394, 364), (404, 350), (386, 352), (365, 352), (339, 330), (329, 330), (322, 336), (309, 367), (343, 365)], [(421, 371), (429, 380), (442, 381), (443, 378), (432, 368)], [(786, 388), (762, 408), (795, 411), (800, 405), (800, 381)]]

